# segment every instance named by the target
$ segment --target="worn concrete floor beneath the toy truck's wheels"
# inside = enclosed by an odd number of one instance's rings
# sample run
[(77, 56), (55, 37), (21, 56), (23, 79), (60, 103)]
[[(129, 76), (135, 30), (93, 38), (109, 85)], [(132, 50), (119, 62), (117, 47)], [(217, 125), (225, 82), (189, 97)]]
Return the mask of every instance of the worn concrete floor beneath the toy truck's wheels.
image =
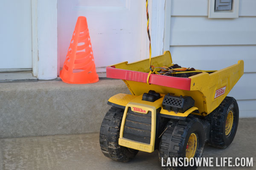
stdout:
[[(256, 169), (256, 118), (240, 119), (233, 143), (224, 150), (204, 148), (204, 157), (253, 157), (254, 167), (218, 169)], [(1, 170), (161, 170), (158, 152), (139, 152), (128, 163), (103, 156), (99, 133), (0, 139)], [(199, 167), (198, 170), (216, 169)]]

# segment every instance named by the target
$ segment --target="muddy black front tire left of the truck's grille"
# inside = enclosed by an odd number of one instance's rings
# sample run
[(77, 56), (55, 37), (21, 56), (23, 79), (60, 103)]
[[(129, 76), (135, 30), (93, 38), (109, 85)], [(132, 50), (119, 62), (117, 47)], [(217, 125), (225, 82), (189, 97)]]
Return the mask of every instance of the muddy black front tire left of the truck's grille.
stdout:
[(99, 132), (99, 144), (102, 153), (115, 161), (127, 162), (133, 159), (138, 150), (118, 144), (124, 109), (111, 107), (106, 113)]

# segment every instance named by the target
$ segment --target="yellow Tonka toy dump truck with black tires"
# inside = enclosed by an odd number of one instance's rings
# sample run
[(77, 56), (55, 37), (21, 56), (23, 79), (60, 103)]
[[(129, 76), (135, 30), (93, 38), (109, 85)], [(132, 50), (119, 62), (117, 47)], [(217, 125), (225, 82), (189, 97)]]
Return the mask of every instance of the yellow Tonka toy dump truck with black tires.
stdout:
[[(152, 65), (173, 65), (169, 51), (153, 57)], [(239, 122), (236, 99), (227, 94), (244, 73), (244, 62), (191, 77), (151, 74), (148, 59), (107, 67), (107, 77), (122, 79), (131, 94), (116, 94), (100, 128), (102, 153), (130, 161), (139, 150), (159, 150), (159, 158), (200, 158), (204, 144), (226, 148)], [(164, 167), (179, 169), (180, 167)], [(196, 168), (196, 167), (195, 167)]]

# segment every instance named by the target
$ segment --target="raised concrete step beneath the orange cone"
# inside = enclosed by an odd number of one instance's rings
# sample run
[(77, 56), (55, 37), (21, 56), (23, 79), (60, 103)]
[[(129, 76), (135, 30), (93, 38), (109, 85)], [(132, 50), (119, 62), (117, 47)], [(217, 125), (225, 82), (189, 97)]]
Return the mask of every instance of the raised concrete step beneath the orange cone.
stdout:
[(99, 132), (108, 99), (130, 94), (122, 80), (0, 83), (0, 138)]

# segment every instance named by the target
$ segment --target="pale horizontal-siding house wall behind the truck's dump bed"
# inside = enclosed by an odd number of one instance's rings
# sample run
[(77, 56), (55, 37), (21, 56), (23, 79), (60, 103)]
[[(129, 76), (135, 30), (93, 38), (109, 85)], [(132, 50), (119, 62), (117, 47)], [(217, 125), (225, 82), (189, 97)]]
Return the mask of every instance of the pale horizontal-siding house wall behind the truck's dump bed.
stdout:
[(256, 116), (256, 1), (240, 0), (239, 18), (209, 19), (208, 0), (172, 0), (170, 52), (174, 63), (218, 70), (244, 60), (230, 92), (240, 116)]

